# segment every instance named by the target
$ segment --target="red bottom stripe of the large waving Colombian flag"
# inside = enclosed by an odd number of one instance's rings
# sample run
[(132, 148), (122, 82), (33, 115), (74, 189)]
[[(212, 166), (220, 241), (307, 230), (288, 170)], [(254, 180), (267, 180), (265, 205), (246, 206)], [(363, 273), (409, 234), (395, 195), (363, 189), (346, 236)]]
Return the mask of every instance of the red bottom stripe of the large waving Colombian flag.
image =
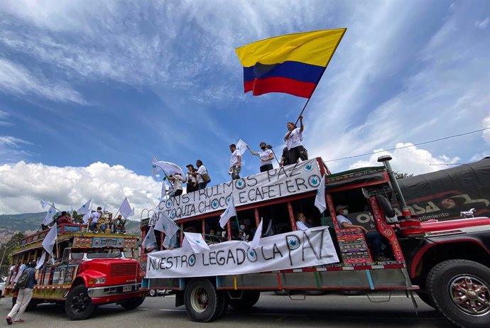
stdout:
[(267, 79), (244, 82), (245, 92), (251, 91), (254, 96), (260, 96), (268, 92), (283, 92), (293, 96), (310, 98), (317, 84), (301, 82), (284, 77), (268, 77)]

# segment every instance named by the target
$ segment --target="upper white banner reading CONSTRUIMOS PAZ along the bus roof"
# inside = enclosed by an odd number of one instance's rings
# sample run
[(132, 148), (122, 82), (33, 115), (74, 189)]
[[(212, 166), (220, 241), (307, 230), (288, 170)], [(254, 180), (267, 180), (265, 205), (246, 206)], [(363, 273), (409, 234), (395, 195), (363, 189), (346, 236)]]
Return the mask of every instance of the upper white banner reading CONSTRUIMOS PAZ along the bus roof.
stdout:
[(320, 180), (317, 161), (312, 159), (171, 197), (160, 202), (158, 209), (170, 219), (183, 219), (225, 209), (232, 195), (235, 207), (240, 207), (266, 199), (316, 191)]

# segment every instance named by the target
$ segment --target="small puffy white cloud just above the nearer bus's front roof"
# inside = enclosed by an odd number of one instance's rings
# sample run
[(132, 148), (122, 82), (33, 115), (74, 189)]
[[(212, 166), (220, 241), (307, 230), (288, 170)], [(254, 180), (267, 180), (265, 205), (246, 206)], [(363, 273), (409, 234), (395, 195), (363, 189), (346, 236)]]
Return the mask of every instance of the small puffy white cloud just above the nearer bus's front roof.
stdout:
[[(459, 162), (459, 158), (448, 158), (445, 155), (434, 156), (425, 149), (412, 146), (412, 143), (397, 143), (396, 148), (407, 147), (402, 149), (396, 149), (395, 151), (383, 151), (383, 149), (376, 149), (376, 154), (371, 155), (369, 160), (359, 160), (350, 166), (351, 169), (362, 168), (366, 166), (379, 166), (382, 165), (377, 160), (381, 155), (391, 155), (391, 167), (401, 173), (408, 173), (413, 175), (419, 175), (423, 173), (433, 172), (447, 168), (448, 164), (456, 164)], [(410, 147), (412, 146), (412, 147)]]

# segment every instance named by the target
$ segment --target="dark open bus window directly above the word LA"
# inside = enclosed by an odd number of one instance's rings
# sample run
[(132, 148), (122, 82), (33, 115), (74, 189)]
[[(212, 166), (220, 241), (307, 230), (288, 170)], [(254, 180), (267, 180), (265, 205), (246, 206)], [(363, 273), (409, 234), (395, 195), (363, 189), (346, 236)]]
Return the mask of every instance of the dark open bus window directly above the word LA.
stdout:
[[(267, 234), (268, 236), (271, 236), (273, 234), (283, 234), (293, 230), (291, 229), (287, 203), (260, 207), (258, 209), (258, 215), (263, 219), (263, 235)], [(271, 220), (272, 223), (269, 224)], [(271, 226), (271, 229), (268, 229), (269, 225)]]

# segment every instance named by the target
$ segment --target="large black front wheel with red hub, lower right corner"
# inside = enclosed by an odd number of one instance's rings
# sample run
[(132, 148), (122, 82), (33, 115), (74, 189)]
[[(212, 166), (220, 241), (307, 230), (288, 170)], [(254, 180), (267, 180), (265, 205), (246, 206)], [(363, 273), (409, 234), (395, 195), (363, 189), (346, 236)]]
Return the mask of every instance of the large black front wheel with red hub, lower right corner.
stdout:
[(489, 327), (490, 268), (467, 260), (437, 264), (427, 278), (437, 310), (460, 327)]

